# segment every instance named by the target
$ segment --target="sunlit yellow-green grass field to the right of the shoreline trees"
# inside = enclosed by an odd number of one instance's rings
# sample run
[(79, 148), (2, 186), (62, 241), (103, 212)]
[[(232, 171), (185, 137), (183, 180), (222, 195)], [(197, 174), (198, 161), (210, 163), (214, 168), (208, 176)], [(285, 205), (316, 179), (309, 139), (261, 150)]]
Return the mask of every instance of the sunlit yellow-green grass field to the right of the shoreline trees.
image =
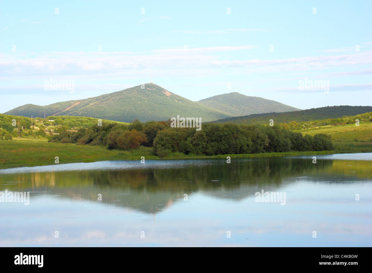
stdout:
[(322, 126), (300, 130), (302, 134), (330, 134), (336, 153), (367, 153), (372, 152), (372, 122), (343, 124), (337, 126)]

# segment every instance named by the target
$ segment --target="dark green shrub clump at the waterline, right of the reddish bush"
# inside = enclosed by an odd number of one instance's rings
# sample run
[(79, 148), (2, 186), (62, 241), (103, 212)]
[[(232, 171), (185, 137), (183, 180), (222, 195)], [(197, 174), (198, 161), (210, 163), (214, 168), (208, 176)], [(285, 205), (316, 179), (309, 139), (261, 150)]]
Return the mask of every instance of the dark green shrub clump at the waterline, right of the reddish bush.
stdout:
[(167, 128), (154, 139), (154, 153), (169, 152), (194, 155), (224, 155), (264, 152), (332, 150), (329, 136), (314, 137), (288, 131), (280, 126), (238, 126), (206, 124), (201, 131), (194, 128)]

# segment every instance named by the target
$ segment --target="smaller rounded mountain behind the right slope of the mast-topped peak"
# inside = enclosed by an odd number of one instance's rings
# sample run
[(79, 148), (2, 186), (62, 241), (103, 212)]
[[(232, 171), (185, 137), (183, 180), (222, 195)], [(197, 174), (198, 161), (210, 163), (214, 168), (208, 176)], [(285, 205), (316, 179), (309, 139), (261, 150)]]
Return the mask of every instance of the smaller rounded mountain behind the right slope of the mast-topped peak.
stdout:
[(202, 99), (199, 102), (234, 116), (301, 110), (277, 101), (246, 96), (237, 92), (212, 96), (210, 98)]

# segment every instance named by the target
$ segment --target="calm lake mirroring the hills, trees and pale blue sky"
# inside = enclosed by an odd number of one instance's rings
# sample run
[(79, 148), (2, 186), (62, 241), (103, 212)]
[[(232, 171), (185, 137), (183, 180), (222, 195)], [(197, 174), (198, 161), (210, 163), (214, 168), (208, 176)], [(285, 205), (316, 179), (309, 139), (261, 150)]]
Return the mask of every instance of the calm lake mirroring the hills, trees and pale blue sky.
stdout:
[(0, 169), (0, 192), (0, 246), (372, 246), (372, 153)]

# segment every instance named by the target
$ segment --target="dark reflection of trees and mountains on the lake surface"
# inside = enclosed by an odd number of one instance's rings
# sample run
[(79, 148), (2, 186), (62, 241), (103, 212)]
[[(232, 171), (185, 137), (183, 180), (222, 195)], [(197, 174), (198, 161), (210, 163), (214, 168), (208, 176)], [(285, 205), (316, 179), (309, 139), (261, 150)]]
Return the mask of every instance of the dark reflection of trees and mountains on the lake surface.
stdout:
[(371, 162), (270, 158), (162, 169), (9, 174), (0, 176), (0, 190), (92, 201), (100, 193), (103, 203), (156, 213), (183, 201), (185, 193), (241, 200), (261, 189), (278, 191), (283, 181), (294, 183), (299, 177), (327, 183), (371, 180)]

